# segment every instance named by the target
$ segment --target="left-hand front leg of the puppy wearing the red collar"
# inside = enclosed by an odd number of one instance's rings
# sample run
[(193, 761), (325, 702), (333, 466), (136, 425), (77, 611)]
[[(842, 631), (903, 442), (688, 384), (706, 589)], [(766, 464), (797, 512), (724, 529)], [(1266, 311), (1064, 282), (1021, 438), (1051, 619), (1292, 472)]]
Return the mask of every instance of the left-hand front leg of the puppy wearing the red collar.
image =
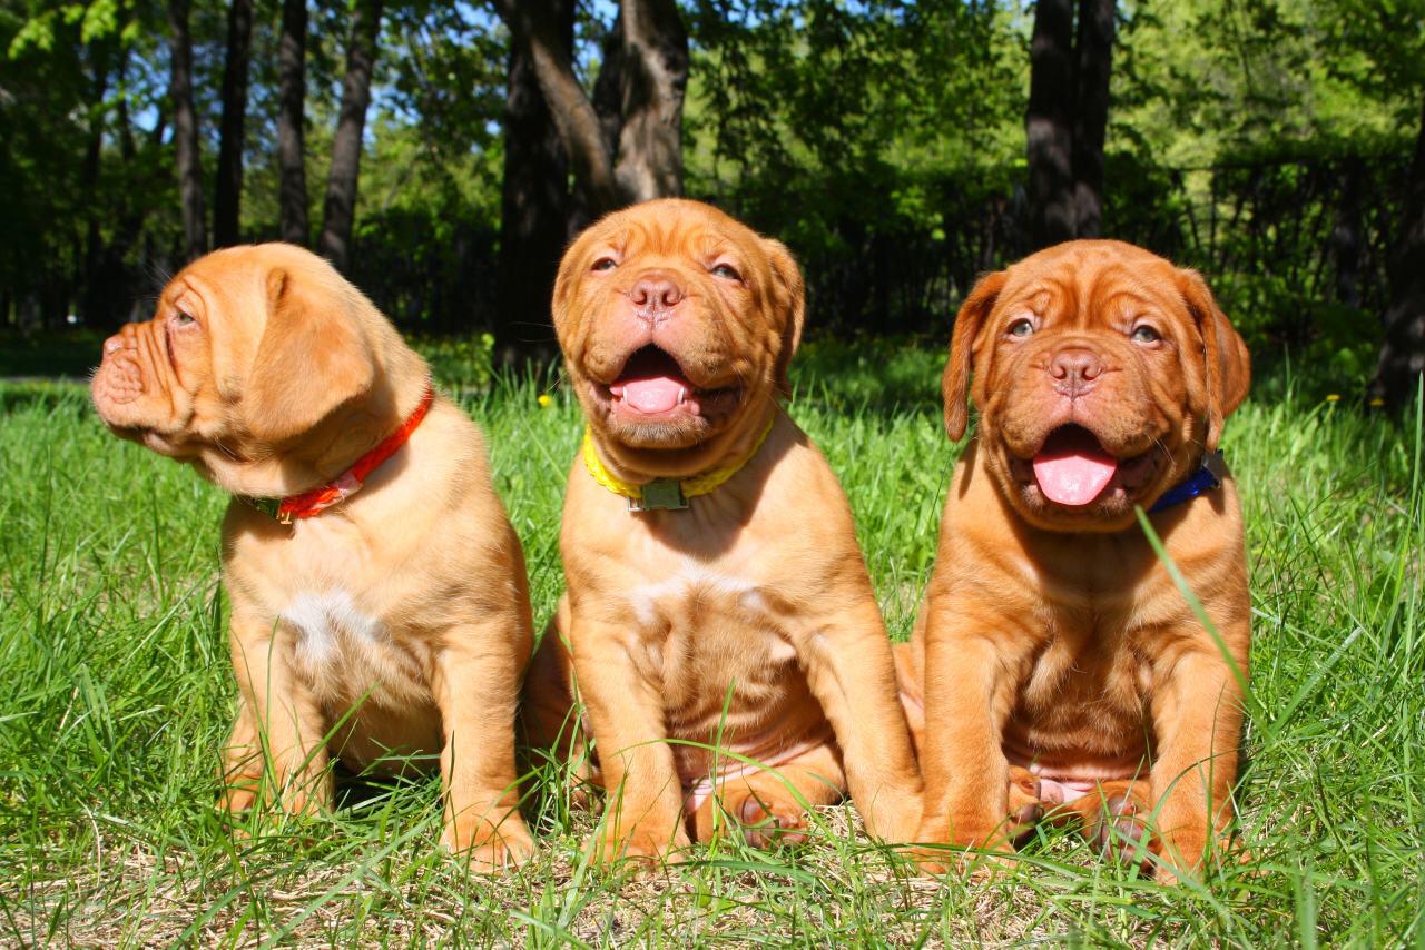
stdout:
[[(234, 605), (228, 647), (242, 694), (231, 753), (251, 756), (254, 746), (259, 751), (266, 796), (279, 800), (284, 810), (329, 808), (332, 776), (326, 768), (325, 715), (292, 671), (292, 628), (281, 620), (254, 620)], [(251, 761), (245, 771), (254, 771)], [(232, 806), (249, 798), (229, 792), (225, 800)]]

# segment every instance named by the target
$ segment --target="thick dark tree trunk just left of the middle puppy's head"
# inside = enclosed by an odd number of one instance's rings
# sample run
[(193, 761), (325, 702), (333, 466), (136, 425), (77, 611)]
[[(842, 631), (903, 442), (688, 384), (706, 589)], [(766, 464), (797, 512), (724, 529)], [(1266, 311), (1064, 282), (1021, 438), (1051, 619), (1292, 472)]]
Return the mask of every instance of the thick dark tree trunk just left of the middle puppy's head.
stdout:
[[(574, 47), (574, 3), (551, 0), (556, 38)], [(529, 46), (510, 44), (504, 97), (504, 191), (500, 214), (500, 302), (494, 359), (504, 366), (554, 353), (549, 302), (569, 239), (569, 161)]]

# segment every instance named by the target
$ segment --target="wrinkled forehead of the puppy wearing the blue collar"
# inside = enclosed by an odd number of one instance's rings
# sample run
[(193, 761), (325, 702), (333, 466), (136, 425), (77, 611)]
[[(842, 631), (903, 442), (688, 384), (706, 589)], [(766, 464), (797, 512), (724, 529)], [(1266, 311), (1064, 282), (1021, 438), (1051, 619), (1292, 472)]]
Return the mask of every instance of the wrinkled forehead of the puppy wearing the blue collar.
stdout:
[(1090, 251), (1036, 255), (1012, 268), (1000, 315), (1030, 310), (1059, 326), (1092, 328), (1133, 310), (1186, 308), (1173, 265), (1149, 254)]

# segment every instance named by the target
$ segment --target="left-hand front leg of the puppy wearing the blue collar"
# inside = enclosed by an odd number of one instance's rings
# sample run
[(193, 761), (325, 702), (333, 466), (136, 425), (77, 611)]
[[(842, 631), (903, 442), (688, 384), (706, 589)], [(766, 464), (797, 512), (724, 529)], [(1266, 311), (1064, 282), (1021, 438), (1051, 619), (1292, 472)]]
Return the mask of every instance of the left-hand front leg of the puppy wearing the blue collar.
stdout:
[[(963, 605), (929, 605), (925, 642), (925, 818), (916, 837), (1009, 852), (1009, 761), (1005, 724), (1013, 711), (1017, 654)], [(926, 852), (926, 870), (943, 859)]]

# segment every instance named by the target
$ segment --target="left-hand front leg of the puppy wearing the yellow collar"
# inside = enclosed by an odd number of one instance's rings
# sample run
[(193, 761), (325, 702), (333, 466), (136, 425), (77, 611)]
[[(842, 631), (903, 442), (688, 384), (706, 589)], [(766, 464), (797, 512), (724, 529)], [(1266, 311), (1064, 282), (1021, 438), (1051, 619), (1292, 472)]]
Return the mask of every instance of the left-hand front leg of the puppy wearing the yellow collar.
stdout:
[[(589, 714), (607, 805), (594, 857), (660, 859), (688, 846), (657, 671), (630, 652), (628, 628), (573, 620), (574, 675)], [(646, 662), (646, 661), (644, 661)]]

